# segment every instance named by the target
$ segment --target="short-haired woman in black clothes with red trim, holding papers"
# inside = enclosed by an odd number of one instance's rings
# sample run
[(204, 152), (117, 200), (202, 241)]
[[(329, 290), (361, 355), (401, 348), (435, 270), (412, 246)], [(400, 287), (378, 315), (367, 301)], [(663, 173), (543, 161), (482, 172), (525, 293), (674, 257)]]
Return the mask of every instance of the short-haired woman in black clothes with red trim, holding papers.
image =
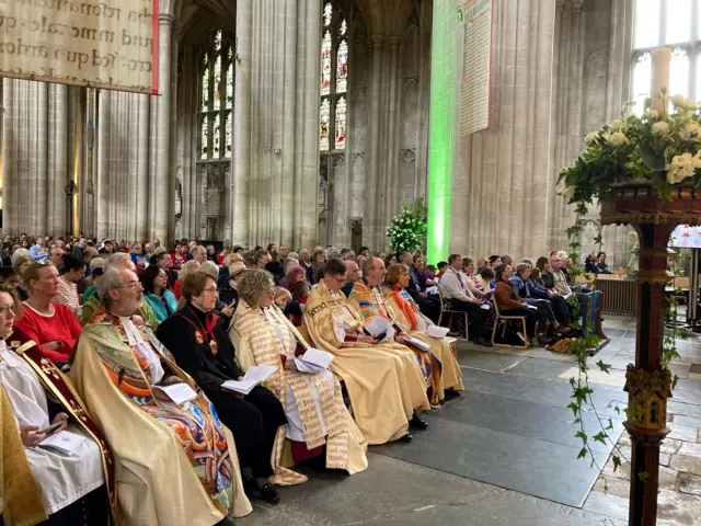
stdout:
[(227, 380), (241, 378), (243, 370), (227, 334), (233, 307), (223, 309), (221, 318), (212, 312), (218, 300), (216, 279), (199, 271), (187, 274), (181, 294), (181, 308), (161, 323), (159, 340), (173, 353), (177, 365), (193, 376), (231, 430), (249, 494), (275, 504), (280, 498), (273, 484), (307, 480), (279, 465), (287, 424), (285, 408), (262, 386), (243, 398), (221, 387)]

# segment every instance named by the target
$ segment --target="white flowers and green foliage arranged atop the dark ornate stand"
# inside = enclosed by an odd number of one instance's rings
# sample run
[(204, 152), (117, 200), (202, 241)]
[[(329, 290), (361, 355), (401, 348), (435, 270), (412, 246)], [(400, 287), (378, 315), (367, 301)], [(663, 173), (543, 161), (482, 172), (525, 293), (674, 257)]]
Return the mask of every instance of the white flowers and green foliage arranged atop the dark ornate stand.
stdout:
[[(653, 110), (652, 103), (662, 111)], [(617, 185), (650, 184), (667, 197), (678, 183), (701, 186), (701, 115), (697, 105), (681, 95), (671, 98), (667, 112), (665, 92), (645, 100), (644, 113), (630, 113), (587, 135), (575, 164), (560, 173), (561, 195), (576, 205), (577, 215), (588, 211), (595, 199), (606, 198)]]

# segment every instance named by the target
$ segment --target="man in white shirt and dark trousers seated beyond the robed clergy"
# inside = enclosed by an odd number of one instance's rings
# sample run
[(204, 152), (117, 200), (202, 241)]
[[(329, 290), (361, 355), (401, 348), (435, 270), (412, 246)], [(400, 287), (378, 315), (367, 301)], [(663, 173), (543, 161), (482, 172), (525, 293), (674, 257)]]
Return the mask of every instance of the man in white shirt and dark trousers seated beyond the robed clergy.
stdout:
[(485, 340), (487, 330), (484, 324), (485, 315), (482, 312), (482, 301), (474, 297), (462, 281), (461, 270), (462, 256), (460, 254), (450, 254), (448, 256), (448, 268), (446, 268), (446, 273), (440, 278), (440, 291), (446, 299), (450, 300), (452, 310), (461, 310), (468, 313), (470, 336), (474, 343), (491, 347), (492, 343)]

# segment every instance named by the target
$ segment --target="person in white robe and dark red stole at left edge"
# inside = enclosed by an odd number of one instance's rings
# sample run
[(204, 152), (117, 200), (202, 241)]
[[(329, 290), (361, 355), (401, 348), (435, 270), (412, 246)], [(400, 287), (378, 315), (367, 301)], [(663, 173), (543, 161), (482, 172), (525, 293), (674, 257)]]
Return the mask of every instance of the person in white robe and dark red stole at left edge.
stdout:
[[(13, 296), (0, 286), (1, 516), (9, 518), (4, 524), (37, 524), (48, 515), (50, 525), (103, 526), (116, 511), (112, 454), (68, 378), (34, 341), (13, 330)], [(49, 422), (61, 425), (38, 433)], [(78, 441), (77, 448), (43, 446), (60, 436)]]

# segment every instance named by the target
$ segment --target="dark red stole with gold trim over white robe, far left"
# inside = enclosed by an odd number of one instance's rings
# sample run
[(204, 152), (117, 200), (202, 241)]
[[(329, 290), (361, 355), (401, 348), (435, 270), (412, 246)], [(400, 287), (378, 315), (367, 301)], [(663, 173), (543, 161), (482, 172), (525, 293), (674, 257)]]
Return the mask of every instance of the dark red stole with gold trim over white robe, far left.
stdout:
[(48, 390), (64, 407), (66, 412), (72, 416), (90, 437), (100, 446), (102, 454), (102, 468), (105, 473), (105, 487), (110, 498), (110, 508), (112, 516), (117, 523), (122, 524), (117, 514), (117, 487), (114, 460), (112, 451), (107, 446), (102, 432), (92, 421), (88, 409), (83, 404), (76, 392), (70, 380), (54, 365), (54, 363), (42, 354), (36, 342), (30, 340), (21, 330), (15, 329), (9, 338), (5, 339), (8, 346), (12, 348), (19, 356), (30, 364), (39, 381), (46, 390)]

